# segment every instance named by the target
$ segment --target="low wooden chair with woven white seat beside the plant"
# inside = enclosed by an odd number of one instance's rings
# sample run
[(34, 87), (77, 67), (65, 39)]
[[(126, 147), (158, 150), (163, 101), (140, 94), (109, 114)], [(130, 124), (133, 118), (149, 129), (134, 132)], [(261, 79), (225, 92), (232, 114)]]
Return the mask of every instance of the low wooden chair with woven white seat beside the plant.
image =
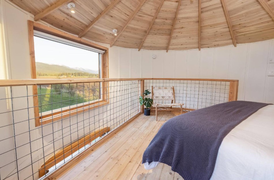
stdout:
[[(172, 87), (157, 87), (151, 86), (151, 98), (153, 101), (168, 101), (171, 100), (171, 103), (153, 103), (152, 106), (155, 106), (156, 111), (156, 121), (157, 121), (157, 112), (158, 111), (181, 111), (183, 113), (183, 105), (180, 103), (175, 103), (175, 92), (174, 86)], [(173, 108), (174, 106), (180, 106), (180, 108)], [(159, 109), (158, 109), (159, 108)]]

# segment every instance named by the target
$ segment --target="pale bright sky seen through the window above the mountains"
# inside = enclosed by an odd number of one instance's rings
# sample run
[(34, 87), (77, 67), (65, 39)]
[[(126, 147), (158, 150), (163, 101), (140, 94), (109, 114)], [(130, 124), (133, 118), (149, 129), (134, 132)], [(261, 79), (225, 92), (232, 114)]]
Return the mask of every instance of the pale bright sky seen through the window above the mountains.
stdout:
[(35, 61), (98, 70), (98, 53), (34, 36)]

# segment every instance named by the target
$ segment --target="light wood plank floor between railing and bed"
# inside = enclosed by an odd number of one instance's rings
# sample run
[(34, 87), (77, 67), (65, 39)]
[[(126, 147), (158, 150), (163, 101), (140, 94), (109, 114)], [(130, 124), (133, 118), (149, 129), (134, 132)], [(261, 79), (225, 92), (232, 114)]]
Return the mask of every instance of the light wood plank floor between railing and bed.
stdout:
[(159, 164), (152, 170), (145, 170), (141, 164), (144, 150), (162, 124), (179, 115), (177, 112), (141, 114), (114, 137), (102, 144), (82, 161), (76, 162), (55, 179), (110, 179), (110, 180), (183, 180), (171, 167)]

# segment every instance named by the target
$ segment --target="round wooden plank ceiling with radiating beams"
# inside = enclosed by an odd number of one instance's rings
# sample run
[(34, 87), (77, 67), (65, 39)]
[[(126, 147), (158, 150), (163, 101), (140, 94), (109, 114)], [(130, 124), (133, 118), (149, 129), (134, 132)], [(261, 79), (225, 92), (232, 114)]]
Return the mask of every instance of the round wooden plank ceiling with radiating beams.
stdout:
[[(274, 0), (10, 1), (35, 20), (79, 37), (139, 50), (236, 46), (274, 38)], [(67, 7), (70, 2), (75, 14)]]

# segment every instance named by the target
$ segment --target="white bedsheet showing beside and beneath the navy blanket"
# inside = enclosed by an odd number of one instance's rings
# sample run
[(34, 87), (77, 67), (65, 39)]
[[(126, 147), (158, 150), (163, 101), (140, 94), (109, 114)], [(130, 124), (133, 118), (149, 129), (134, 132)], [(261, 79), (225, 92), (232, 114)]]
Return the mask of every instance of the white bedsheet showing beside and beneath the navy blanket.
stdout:
[[(158, 164), (147, 162), (144, 167)], [(211, 180), (274, 180), (274, 105), (261, 108), (228, 133)]]

